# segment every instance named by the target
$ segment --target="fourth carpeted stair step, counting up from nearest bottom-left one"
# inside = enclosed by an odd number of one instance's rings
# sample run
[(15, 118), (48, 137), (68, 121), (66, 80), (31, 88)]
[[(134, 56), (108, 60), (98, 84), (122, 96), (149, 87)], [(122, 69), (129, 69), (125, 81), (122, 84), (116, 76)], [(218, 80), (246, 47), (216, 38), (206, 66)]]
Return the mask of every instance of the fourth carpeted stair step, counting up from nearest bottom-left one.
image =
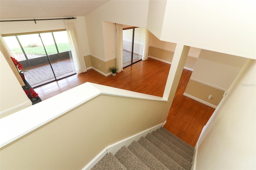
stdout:
[[(148, 152), (154, 155), (158, 160), (160, 160), (167, 168), (173, 170), (184, 170), (182, 166), (180, 166), (177, 162), (172, 160), (168, 155), (166, 155), (162, 150), (157, 148), (154, 144), (152, 144), (149, 140), (144, 138), (143, 136), (138, 140), (138, 143), (146, 148)], [(168, 148), (168, 146), (167, 146)]]

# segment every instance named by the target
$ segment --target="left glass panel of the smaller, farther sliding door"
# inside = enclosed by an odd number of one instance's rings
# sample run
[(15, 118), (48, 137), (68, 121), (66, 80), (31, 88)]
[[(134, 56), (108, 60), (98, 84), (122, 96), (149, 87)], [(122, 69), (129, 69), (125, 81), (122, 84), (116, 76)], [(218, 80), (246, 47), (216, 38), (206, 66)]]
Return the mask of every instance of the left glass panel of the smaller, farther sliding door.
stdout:
[(132, 64), (133, 29), (123, 30), (123, 67)]

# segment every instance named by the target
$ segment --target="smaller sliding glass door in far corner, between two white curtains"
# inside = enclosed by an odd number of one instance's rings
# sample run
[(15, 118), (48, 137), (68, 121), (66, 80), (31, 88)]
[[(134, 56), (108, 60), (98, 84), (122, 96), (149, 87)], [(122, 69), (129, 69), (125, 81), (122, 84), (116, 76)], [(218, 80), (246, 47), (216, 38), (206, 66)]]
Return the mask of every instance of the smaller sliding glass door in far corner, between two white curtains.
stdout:
[(123, 67), (142, 59), (145, 32), (145, 28), (123, 30)]

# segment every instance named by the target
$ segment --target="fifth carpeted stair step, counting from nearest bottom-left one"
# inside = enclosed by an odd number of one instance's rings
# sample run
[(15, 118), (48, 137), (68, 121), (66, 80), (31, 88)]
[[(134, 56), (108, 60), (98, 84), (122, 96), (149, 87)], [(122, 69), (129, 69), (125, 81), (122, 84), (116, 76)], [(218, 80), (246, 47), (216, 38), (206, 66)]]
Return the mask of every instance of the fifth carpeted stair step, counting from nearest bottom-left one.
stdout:
[(164, 152), (170, 158), (172, 158), (172, 160), (177, 162), (177, 164), (182, 166), (182, 168), (184, 168), (185, 170), (190, 170), (192, 164), (188, 162), (188, 160), (186, 160), (180, 154), (169, 148), (166, 144), (161, 142), (161, 140), (156, 138), (154, 135), (149, 133), (145, 138), (148, 139), (152, 144), (154, 144), (154, 146), (162, 150), (162, 152)]

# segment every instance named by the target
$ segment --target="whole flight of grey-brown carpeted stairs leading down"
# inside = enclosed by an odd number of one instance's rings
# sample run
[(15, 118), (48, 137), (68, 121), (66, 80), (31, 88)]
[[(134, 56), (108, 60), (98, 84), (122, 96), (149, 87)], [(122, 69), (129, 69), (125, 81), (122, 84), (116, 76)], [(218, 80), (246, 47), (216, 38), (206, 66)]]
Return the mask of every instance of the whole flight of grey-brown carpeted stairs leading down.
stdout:
[(190, 170), (194, 148), (160, 127), (106, 154), (91, 170)]

